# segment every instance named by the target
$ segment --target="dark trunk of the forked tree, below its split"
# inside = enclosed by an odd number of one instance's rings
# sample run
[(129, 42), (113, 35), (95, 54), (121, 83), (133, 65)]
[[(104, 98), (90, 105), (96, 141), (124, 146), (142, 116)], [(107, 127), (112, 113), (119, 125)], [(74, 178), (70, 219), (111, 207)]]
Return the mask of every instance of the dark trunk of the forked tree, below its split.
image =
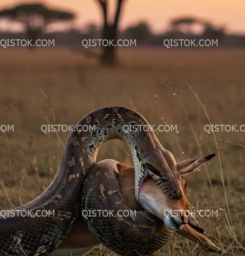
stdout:
[(117, 42), (117, 27), (108, 25), (104, 26), (103, 40), (105, 41), (102, 46), (100, 62), (102, 65), (114, 66), (117, 60), (117, 46), (115, 46)]

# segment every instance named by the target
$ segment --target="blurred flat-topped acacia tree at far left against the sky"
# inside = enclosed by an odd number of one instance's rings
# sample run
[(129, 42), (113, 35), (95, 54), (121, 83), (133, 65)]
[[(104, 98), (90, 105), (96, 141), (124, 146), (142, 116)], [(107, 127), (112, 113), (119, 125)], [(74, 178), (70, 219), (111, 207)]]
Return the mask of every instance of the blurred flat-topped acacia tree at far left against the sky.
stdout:
[(35, 41), (50, 23), (73, 20), (75, 15), (71, 12), (48, 9), (41, 3), (34, 3), (19, 4), (12, 9), (4, 9), (0, 12), (0, 18), (22, 23), (25, 26), (26, 39)]

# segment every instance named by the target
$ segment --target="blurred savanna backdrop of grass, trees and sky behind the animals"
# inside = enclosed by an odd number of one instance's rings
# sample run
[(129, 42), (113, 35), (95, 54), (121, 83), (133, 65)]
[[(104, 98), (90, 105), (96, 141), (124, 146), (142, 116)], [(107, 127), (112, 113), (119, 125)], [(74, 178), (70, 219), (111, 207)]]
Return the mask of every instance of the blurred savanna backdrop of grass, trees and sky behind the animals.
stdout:
[[(75, 125), (97, 108), (122, 105), (155, 127), (177, 125), (177, 131), (156, 132), (176, 162), (216, 153), (186, 177), (187, 197), (197, 210), (218, 210), (218, 217), (197, 218), (205, 236), (245, 255), (244, 10), (240, 0), (1, 0), (0, 125), (14, 127), (0, 132), (1, 210), (40, 195), (56, 173), (69, 131), (44, 133), (42, 125)], [(11, 39), (50, 45), (7, 46)], [(86, 48), (89, 39), (136, 45), (99, 47), (97, 41)], [(179, 41), (167, 48), (166, 39), (218, 45)], [(208, 133), (209, 120), (236, 125), (237, 132)], [(98, 161), (106, 158), (132, 164), (118, 140), (102, 145)], [(174, 239), (161, 255), (197, 253), (192, 242)]]

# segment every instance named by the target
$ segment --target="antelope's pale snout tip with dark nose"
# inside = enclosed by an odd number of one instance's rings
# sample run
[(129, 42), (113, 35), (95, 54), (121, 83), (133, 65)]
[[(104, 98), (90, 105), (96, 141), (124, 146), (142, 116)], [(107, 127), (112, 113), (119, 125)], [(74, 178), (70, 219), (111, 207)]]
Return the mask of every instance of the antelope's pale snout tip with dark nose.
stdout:
[(184, 212), (174, 211), (174, 213), (168, 212), (165, 214), (164, 224), (167, 228), (171, 230), (182, 229), (185, 224), (187, 224), (187, 216)]

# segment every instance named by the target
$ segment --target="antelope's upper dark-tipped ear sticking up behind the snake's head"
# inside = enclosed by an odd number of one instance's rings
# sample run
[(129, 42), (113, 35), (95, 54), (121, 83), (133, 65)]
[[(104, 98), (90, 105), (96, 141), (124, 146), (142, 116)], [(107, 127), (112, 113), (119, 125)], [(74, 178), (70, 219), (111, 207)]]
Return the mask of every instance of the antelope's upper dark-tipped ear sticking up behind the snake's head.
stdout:
[(204, 156), (200, 158), (193, 158), (184, 160), (182, 162), (177, 163), (177, 172), (179, 172), (180, 175), (187, 174), (189, 172), (193, 172), (197, 170), (202, 164), (205, 164), (210, 159), (212, 159), (215, 156), (215, 154)]

